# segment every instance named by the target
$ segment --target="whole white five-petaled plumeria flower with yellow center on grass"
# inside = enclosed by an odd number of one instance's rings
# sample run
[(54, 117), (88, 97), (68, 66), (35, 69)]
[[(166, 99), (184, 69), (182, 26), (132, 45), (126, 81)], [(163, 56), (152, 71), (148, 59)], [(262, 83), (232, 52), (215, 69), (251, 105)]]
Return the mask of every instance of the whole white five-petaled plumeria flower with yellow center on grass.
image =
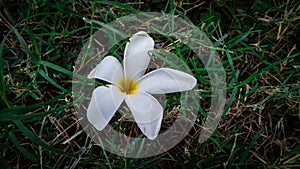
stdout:
[(160, 130), (163, 108), (151, 94), (191, 90), (197, 82), (192, 75), (170, 68), (156, 69), (144, 75), (154, 41), (142, 31), (129, 40), (123, 65), (115, 57), (106, 56), (88, 75), (88, 78), (97, 78), (110, 85), (93, 91), (87, 118), (101, 131), (125, 101), (140, 130), (148, 139), (154, 140)]

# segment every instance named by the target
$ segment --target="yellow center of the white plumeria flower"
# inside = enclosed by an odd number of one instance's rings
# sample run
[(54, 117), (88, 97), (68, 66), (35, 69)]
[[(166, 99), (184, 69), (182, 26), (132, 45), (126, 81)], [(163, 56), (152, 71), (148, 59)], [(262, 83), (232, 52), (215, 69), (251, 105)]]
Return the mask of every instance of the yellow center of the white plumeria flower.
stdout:
[(118, 86), (122, 93), (132, 95), (138, 88), (138, 82), (131, 78), (124, 78), (118, 82)]

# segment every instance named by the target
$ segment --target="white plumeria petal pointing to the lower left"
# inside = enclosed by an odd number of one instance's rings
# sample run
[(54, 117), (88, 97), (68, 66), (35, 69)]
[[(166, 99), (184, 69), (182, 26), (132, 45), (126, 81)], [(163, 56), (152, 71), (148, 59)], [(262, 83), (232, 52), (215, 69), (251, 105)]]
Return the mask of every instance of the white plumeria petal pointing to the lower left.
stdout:
[(92, 99), (87, 109), (89, 122), (97, 129), (103, 130), (111, 120), (125, 95), (114, 85), (100, 86), (93, 91)]

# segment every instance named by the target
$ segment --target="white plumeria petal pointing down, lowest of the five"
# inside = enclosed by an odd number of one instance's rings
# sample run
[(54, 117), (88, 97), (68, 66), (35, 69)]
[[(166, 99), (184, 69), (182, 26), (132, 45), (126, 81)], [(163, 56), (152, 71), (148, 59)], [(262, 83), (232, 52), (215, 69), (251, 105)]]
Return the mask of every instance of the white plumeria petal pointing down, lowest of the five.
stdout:
[(134, 120), (147, 138), (154, 140), (159, 132), (163, 108), (150, 94), (137, 92), (127, 95), (125, 102), (128, 105)]

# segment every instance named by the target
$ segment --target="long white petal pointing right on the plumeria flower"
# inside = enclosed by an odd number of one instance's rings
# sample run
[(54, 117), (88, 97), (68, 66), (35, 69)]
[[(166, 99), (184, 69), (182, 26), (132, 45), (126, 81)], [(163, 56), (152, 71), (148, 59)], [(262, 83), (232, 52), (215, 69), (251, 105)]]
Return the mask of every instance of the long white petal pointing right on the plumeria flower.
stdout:
[(138, 91), (151, 94), (182, 92), (195, 87), (197, 80), (194, 76), (182, 71), (160, 68), (140, 79)]

